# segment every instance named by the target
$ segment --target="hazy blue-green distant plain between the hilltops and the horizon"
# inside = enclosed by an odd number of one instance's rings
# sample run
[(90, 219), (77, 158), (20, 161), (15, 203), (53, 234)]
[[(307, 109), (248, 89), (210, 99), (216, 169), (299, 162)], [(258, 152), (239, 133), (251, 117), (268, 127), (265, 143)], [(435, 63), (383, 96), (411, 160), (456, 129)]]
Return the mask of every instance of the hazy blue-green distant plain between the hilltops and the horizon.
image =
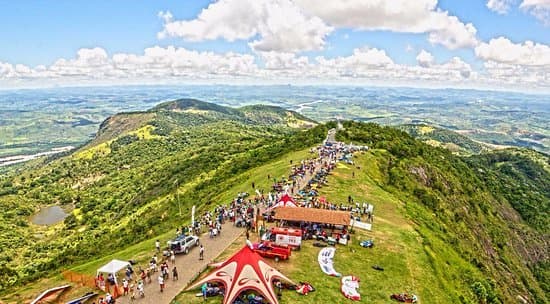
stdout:
[(550, 99), (495, 91), (316, 86), (155, 86), (0, 91), (0, 157), (31, 155), (91, 140), (110, 115), (168, 99), (239, 107), (280, 106), (321, 122), (429, 124), (497, 146), (550, 153)]

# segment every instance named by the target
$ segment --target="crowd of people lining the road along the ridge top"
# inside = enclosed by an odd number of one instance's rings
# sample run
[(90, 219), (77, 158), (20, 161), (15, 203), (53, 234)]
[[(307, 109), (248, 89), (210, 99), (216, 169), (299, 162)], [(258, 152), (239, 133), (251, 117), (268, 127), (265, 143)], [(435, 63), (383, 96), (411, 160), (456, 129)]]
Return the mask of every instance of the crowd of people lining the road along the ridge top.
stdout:
[[(297, 197), (302, 207), (308, 208), (326, 208), (333, 210), (350, 210), (361, 214), (368, 214), (369, 204), (353, 202), (350, 196), (348, 206), (327, 202), (324, 198), (319, 198), (317, 188), (326, 184), (327, 175), (336, 167), (339, 155), (347, 152), (347, 148), (340, 143), (332, 145), (323, 145), (313, 153), (317, 157), (305, 159), (298, 163), (291, 164), (291, 172), (288, 178), (283, 177), (280, 180), (268, 174), (268, 180), (273, 181), (272, 192), (264, 193), (257, 189), (255, 183), (252, 183), (252, 189), (255, 195), (250, 196), (247, 192), (238, 193), (237, 196), (226, 205), (219, 205), (214, 210), (204, 211), (196, 221), (191, 225), (184, 225), (176, 228), (176, 237), (182, 235), (201, 235), (208, 233), (209, 238), (216, 238), (222, 232), (222, 225), (230, 221), (233, 225), (246, 228), (247, 239), (249, 230), (255, 228), (256, 217), (259, 216), (261, 208), (269, 208), (276, 204), (282, 195), (291, 194)], [(370, 216), (369, 216), (370, 217)], [(306, 232), (310, 234), (322, 234), (323, 226), (310, 224)], [(122, 281), (124, 295), (129, 295), (131, 299), (145, 296), (145, 285), (156, 281), (159, 285), (159, 291), (163, 292), (166, 288), (166, 281), (170, 275), (172, 280), (178, 279), (178, 270), (176, 268), (176, 256), (173, 250), (168, 248), (162, 251), (160, 240), (155, 241), (155, 254), (149, 261), (148, 267), (138, 267), (137, 275), (131, 266), (126, 270), (126, 277)], [(204, 245), (200, 244), (199, 260), (204, 259)], [(159, 256), (160, 259), (159, 260)], [(171, 266), (169, 266), (169, 263)], [(114, 278), (107, 278), (111, 284), (116, 284)], [(114, 303), (114, 297), (107, 294), (105, 298), (100, 299), (98, 304)]]

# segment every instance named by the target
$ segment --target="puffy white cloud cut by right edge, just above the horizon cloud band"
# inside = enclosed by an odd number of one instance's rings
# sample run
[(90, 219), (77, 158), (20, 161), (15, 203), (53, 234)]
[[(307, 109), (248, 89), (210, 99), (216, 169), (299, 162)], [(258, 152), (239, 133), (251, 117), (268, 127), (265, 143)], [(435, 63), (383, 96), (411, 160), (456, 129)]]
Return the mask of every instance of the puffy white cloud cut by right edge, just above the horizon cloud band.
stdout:
[(491, 39), (475, 48), (476, 56), (485, 61), (527, 66), (546, 66), (550, 69), (550, 46), (525, 41), (515, 44), (505, 37)]

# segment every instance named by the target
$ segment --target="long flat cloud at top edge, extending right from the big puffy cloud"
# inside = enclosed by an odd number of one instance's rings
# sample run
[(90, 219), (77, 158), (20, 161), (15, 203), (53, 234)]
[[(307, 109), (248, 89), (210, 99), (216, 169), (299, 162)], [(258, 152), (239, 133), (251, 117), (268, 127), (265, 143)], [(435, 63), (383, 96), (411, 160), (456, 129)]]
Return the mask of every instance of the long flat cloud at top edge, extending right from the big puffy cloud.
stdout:
[(437, 8), (437, 0), (295, 0), (306, 12), (335, 27), (428, 33), (449, 49), (475, 46), (477, 30)]

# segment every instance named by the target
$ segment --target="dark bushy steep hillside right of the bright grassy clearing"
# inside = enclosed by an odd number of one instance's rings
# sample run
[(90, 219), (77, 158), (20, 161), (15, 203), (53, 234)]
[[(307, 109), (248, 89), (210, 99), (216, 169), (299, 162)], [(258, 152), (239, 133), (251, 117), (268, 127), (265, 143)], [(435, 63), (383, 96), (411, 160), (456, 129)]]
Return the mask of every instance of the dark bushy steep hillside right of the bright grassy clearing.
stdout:
[(378, 182), (399, 197), (422, 236), (441, 286), (468, 302), (547, 303), (548, 157), (502, 150), (470, 157), (434, 148), (405, 132), (344, 123), (337, 139), (369, 145)]

